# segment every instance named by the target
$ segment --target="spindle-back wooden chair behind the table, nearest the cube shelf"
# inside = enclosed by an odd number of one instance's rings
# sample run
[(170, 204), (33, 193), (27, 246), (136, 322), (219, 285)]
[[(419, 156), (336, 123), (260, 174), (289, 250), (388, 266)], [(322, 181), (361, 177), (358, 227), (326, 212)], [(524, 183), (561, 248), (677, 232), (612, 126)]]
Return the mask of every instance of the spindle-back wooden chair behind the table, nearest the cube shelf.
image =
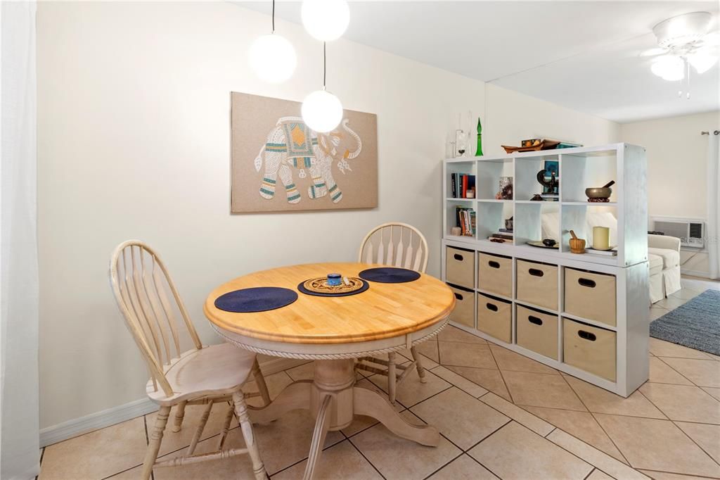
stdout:
[[(373, 228), (360, 244), (358, 262), (379, 263), (392, 267), (408, 268), (425, 273), (428, 267), (428, 242), (425, 236), (407, 223), (383, 223)], [(425, 369), (420, 361), (420, 354), (415, 347), (410, 348), (413, 362), (408, 365), (397, 365), (395, 352), (387, 355), (387, 360), (377, 357), (361, 357), (356, 363), (356, 370), (378, 373), (387, 376), (387, 396), (391, 404), (395, 404), (395, 393), (408, 373), (415, 367), (420, 382), (425, 383)], [(383, 369), (384, 367), (385, 369)]]

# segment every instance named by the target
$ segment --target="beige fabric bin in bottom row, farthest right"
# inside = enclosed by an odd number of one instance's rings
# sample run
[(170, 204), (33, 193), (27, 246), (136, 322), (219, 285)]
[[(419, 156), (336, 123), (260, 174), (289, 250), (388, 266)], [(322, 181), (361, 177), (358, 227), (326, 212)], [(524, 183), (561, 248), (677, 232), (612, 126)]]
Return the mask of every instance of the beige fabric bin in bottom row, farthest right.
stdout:
[(615, 381), (616, 334), (579, 321), (562, 319), (563, 361)]

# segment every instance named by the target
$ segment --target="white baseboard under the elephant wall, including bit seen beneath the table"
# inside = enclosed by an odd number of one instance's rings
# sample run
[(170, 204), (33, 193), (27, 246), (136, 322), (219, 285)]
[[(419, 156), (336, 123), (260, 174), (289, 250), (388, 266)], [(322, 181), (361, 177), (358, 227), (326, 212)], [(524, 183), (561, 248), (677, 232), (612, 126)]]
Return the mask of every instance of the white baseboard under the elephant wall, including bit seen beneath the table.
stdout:
[[(288, 368), (297, 367), (297, 365), (302, 365), (303, 363), (307, 363), (307, 360), (276, 357), (260, 360), (263, 375), (272, 375), (273, 373), (278, 373)], [(157, 409), (157, 404), (146, 397), (144, 399), (131, 401), (125, 405), (113, 406), (101, 412), (95, 412), (84, 417), (43, 428), (40, 430), (40, 447), (47, 447), (48, 445), (53, 445), (53, 443), (68, 440), (68, 438), (109, 427), (116, 423), (126, 422), (135, 417), (156, 412)]]

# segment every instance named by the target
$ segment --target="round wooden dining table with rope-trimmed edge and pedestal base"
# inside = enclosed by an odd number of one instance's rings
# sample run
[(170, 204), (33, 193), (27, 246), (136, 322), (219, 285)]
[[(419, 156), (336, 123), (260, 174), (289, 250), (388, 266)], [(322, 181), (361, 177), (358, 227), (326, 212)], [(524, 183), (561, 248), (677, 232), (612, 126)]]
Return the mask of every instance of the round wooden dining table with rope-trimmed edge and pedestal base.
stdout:
[(312, 381), (291, 383), (269, 405), (251, 409), (253, 422), (271, 422), (294, 409), (315, 417), (315, 431), (305, 469), (311, 479), (330, 430), (341, 430), (354, 415), (373, 417), (399, 437), (437, 446), (438, 430), (407, 422), (387, 396), (356, 386), (356, 358), (418, 345), (446, 326), (455, 306), (454, 293), (440, 280), (421, 274), (407, 283), (369, 282), (356, 295), (324, 297), (298, 293), (282, 308), (254, 313), (220, 310), (215, 299), (242, 288), (282, 287), (297, 292), (305, 280), (339, 272), (357, 277), (373, 267), (362, 263), (293, 265), (235, 278), (207, 296), (204, 312), (215, 331), (238, 347), (275, 357), (314, 360)]

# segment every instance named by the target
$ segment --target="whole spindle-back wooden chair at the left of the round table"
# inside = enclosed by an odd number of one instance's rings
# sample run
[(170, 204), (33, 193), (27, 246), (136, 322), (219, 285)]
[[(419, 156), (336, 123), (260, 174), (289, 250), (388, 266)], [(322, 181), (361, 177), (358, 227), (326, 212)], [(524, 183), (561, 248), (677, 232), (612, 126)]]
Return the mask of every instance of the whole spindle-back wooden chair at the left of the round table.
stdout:
[[(156, 467), (249, 453), (256, 478), (266, 479), (245, 403), (246, 396), (261, 396), (265, 404), (270, 402), (255, 354), (228, 343), (203, 346), (165, 264), (142, 241), (129, 240), (117, 246), (110, 260), (110, 283), (127, 329), (150, 370), (146, 386), (148, 397), (160, 406), (155, 425), (148, 432), (150, 442), (142, 478), (149, 479)], [(178, 318), (181, 318), (180, 322)], [(189, 350), (184, 350), (187, 346)], [(259, 392), (246, 395), (240, 388), (250, 375), (253, 375)], [(217, 450), (195, 455), (212, 406), (217, 403), (230, 404)], [(157, 461), (171, 407), (177, 406), (173, 431), (178, 432), (188, 404), (204, 404), (205, 408), (187, 454)], [(246, 448), (223, 450), (233, 414), (240, 422)]]

